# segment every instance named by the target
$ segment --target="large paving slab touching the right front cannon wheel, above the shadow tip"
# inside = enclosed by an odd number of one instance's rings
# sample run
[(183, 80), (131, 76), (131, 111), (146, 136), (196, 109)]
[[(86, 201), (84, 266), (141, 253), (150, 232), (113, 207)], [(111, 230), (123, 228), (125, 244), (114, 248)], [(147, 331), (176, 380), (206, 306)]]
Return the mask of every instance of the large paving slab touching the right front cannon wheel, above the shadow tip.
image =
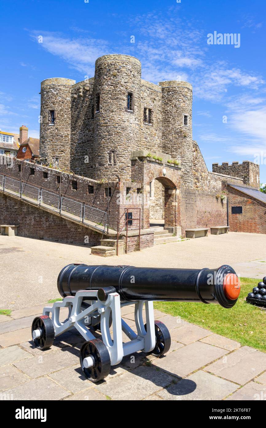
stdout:
[(227, 352), (224, 349), (207, 345), (207, 343), (195, 342), (167, 354), (166, 357), (155, 359), (152, 363), (172, 375), (183, 377), (222, 357)]

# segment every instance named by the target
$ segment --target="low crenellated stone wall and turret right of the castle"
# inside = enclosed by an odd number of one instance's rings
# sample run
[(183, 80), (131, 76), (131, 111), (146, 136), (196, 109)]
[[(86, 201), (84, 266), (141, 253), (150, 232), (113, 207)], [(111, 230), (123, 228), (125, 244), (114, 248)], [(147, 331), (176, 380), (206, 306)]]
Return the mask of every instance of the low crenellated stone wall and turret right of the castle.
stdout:
[(213, 172), (242, 178), (244, 184), (260, 188), (260, 166), (249, 160), (244, 160), (243, 163), (232, 162), (232, 165), (228, 162), (223, 162), (222, 165), (213, 163)]

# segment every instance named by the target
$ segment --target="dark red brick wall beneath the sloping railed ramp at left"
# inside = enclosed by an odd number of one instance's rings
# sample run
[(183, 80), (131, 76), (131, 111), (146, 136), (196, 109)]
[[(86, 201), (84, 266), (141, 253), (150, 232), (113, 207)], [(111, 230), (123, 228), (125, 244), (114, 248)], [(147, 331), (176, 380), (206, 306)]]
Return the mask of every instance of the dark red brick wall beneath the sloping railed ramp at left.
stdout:
[(0, 224), (18, 224), (18, 236), (68, 244), (100, 245), (101, 235), (84, 226), (0, 193)]

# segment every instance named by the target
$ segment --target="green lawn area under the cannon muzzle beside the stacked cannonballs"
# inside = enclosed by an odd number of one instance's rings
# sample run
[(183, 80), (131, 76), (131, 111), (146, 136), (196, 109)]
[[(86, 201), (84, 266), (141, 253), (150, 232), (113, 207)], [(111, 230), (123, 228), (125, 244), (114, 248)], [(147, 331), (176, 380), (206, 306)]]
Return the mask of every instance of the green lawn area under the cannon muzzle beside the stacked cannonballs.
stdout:
[(258, 282), (258, 279), (240, 278), (240, 297), (231, 309), (220, 305), (183, 302), (156, 302), (154, 306), (162, 312), (236, 340), (241, 345), (266, 352), (266, 311), (245, 300)]

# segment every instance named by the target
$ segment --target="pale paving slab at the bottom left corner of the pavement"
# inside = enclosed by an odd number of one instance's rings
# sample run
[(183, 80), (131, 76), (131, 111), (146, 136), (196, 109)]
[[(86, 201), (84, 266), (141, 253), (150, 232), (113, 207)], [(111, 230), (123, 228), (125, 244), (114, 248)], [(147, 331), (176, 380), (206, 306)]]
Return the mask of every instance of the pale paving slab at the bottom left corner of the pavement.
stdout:
[(5, 394), (12, 395), (13, 400), (61, 400), (70, 393), (47, 377), (32, 379), (15, 388), (6, 389)]

